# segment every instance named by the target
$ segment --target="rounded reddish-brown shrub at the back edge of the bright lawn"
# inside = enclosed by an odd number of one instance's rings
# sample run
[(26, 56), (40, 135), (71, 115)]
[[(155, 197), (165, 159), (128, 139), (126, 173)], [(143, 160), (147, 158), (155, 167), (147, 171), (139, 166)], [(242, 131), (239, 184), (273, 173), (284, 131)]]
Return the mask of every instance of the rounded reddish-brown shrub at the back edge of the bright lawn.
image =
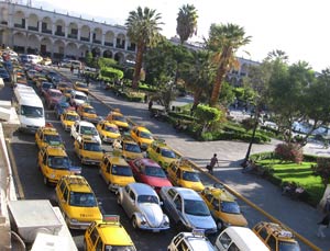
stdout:
[(283, 161), (301, 163), (304, 160), (302, 149), (298, 144), (278, 144), (275, 148), (275, 155)]

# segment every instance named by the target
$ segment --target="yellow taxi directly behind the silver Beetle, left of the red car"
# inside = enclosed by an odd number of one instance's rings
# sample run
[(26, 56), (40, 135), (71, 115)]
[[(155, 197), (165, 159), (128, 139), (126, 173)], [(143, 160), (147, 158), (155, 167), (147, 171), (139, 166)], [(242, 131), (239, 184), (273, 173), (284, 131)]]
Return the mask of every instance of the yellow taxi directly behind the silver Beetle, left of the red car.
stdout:
[(135, 182), (131, 167), (120, 156), (105, 155), (99, 172), (111, 191), (117, 191), (121, 186)]

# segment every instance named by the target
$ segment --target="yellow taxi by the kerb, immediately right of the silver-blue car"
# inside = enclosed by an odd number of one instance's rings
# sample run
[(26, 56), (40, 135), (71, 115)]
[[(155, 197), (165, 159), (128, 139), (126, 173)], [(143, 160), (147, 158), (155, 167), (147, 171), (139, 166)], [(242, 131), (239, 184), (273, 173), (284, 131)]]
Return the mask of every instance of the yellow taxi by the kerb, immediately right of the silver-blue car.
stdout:
[(248, 226), (235, 198), (221, 184), (206, 187), (200, 192), (200, 196), (210, 209), (219, 230), (229, 226)]

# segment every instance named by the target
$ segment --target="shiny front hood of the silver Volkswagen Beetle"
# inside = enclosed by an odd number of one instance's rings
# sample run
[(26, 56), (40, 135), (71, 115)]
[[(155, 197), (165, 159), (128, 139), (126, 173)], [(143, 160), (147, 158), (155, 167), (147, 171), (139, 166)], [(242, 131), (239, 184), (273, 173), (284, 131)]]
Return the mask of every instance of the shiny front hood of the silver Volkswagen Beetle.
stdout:
[(139, 207), (151, 227), (158, 227), (162, 224), (164, 214), (158, 204), (140, 203)]

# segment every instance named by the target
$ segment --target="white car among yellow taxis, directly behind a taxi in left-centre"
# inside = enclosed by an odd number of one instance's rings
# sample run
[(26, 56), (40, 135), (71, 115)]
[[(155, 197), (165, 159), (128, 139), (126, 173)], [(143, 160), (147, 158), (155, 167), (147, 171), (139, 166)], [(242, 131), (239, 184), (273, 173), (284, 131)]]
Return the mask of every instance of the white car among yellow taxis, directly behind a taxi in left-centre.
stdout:
[(102, 142), (100, 135), (94, 124), (85, 121), (76, 121), (72, 126), (70, 136), (74, 139), (80, 140), (82, 135), (92, 136), (92, 138), (98, 140), (100, 144)]

